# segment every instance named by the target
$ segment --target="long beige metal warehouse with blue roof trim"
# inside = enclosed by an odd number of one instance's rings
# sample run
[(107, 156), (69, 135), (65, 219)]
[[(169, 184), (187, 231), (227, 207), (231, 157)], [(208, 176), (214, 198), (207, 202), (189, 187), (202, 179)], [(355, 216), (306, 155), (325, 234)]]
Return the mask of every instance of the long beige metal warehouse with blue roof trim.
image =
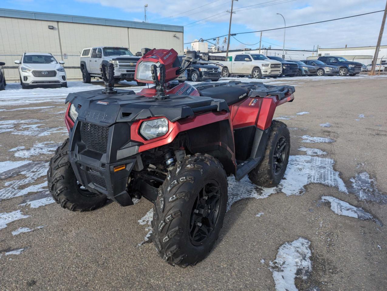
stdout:
[(183, 26), (0, 8), (0, 61), (7, 81), (19, 80), (23, 53), (51, 53), (65, 61), (68, 79), (81, 79), (80, 52), (93, 46), (173, 48), (183, 54)]

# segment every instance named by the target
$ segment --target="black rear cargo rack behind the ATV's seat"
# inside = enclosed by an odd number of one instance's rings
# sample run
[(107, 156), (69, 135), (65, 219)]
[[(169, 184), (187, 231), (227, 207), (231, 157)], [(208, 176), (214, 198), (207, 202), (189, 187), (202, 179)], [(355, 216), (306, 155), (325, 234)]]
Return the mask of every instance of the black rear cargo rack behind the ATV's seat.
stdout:
[(262, 82), (239, 82), (229, 81), (228, 83), (200, 83), (195, 87), (200, 91), (211, 87), (241, 87), (248, 89), (248, 97), (266, 97), (267, 95), (276, 95), (278, 100), (282, 100), (288, 94), (293, 94), (295, 88), (293, 86), (276, 86), (276, 85), (265, 85)]

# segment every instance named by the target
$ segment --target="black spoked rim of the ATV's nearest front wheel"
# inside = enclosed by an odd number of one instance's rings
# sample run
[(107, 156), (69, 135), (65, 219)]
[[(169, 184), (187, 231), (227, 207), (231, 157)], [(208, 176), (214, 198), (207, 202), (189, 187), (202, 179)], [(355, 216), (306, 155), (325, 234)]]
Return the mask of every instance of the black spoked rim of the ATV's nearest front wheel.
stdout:
[(218, 222), (220, 197), (220, 186), (215, 180), (205, 182), (199, 191), (190, 218), (190, 239), (193, 245), (202, 245), (211, 236)]

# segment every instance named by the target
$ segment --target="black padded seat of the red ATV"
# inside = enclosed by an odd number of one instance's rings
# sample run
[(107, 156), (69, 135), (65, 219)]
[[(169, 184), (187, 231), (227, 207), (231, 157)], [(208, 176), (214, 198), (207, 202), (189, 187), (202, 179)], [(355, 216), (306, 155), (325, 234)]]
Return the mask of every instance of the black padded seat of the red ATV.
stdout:
[(227, 105), (230, 106), (239, 102), (240, 100), (246, 99), (248, 89), (241, 87), (211, 87), (204, 90), (200, 90), (200, 96), (211, 97), (214, 99), (223, 99)]

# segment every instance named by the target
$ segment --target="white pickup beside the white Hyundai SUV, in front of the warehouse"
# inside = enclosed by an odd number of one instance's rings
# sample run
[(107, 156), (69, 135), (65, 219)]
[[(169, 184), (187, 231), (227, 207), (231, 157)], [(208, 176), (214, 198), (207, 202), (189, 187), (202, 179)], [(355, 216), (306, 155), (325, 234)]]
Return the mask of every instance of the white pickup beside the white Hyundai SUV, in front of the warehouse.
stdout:
[[(103, 61), (113, 63), (114, 80), (133, 81), (134, 71), (139, 56), (134, 56), (127, 48), (115, 48), (110, 46), (99, 46), (95, 48), (85, 48), (80, 54), (80, 70), (84, 83), (90, 83), (91, 78), (102, 78), (99, 66)], [(137, 82), (142, 86), (144, 83)]]

